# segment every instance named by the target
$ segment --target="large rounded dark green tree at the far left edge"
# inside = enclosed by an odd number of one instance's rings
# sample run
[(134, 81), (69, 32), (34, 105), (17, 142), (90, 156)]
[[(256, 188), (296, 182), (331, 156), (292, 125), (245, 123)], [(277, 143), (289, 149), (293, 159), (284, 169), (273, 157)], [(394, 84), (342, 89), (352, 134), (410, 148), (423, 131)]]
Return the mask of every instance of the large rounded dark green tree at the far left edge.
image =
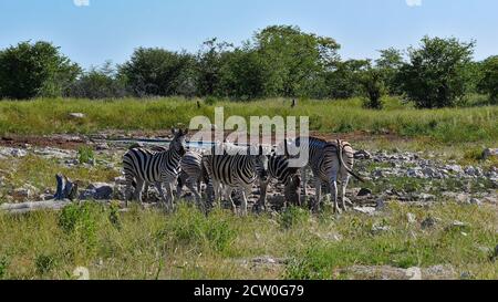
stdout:
[(81, 72), (48, 42), (21, 42), (0, 51), (0, 97), (61, 96)]

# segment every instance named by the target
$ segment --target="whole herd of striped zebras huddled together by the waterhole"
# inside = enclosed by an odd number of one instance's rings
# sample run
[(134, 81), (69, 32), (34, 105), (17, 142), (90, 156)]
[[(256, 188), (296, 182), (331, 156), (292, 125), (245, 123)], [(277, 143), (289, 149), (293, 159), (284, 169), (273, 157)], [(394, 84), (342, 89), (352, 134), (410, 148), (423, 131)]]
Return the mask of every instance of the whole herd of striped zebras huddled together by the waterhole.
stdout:
[[(174, 199), (179, 199), (184, 186), (187, 186), (197, 205), (206, 212), (222, 198), (230, 201), (232, 210), (236, 211), (231, 195), (235, 190), (239, 190), (240, 211), (245, 216), (248, 211), (248, 197), (257, 181), (260, 197), (253, 210), (266, 210), (267, 187), (271, 179), (283, 184), (286, 204), (302, 206), (300, 190), (302, 187), (307, 197), (307, 170), (311, 169), (317, 189), (314, 202), (310, 205), (312, 210), (319, 211), (322, 184), (326, 184), (332, 192), (334, 212), (341, 212), (341, 208), (347, 209), (344, 197), (350, 177), (363, 181), (353, 171), (353, 148), (341, 139), (328, 142), (317, 137), (298, 137), (292, 142), (286, 139), (270, 152), (266, 152), (262, 146), (240, 147), (231, 143), (217, 143), (211, 149), (203, 152), (186, 147), (188, 129), (172, 129), (172, 134), (174, 138), (167, 149), (151, 150), (135, 147), (124, 155), (126, 207), (132, 199), (142, 204), (144, 188), (155, 185), (165, 207), (172, 210)], [(289, 154), (290, 145), (299, 153), (308, 153), (308, 162), (303, 163), (301, 168), (289, 164), (292, 158)], [(283, 152), (277, 152), (282, 148)], [(279, 155), (282, 153), (283, 155)], [(206, 184), (206, 198), (201, 198), (200, 194), (203, 181)], [(339, 199), (342, 201), (341, 205)]]

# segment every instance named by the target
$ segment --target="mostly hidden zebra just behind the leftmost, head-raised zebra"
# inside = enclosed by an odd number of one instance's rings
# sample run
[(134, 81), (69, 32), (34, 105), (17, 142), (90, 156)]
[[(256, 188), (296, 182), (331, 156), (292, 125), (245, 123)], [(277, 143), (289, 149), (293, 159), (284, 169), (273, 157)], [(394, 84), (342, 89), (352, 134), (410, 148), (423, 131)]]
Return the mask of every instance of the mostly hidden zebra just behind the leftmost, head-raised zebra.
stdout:
[(207, 170), (203, 165), (203, 153), (197, 150), (187, 152), (184, 157), (181, 157), (180, 168), (181, 171), (176, 187), (177, 199), (181, 197), (184, 186), (187, 186), (194, 194), (197, 205), (200, 206), (200, 183), (209, 183)]

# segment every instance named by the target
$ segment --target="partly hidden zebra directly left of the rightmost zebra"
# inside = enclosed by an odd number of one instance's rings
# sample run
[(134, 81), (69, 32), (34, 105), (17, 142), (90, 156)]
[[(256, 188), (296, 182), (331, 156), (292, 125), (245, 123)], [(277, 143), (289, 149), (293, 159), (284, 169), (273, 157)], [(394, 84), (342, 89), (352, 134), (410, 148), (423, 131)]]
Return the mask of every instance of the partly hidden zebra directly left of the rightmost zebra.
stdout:
[(286, 198), (286, 204), (290, 202), (293, 206), (301, 207), (301, 198), (299, 188), (301, 185), (301, 177), (299, 175), (299, 167), (289, 166), (289, 152), (287, 139), (284, 144), (284, 155), (278, 155), (274, 150), (268, 156), (268, 181), (260, 181), (260, 199), (257, 205), (255, 205), (255, 211), (260, 211), (267, 208), (267, 188), (270, 179), (277, 179), (280, 184), (283, 184), (283, 194)]

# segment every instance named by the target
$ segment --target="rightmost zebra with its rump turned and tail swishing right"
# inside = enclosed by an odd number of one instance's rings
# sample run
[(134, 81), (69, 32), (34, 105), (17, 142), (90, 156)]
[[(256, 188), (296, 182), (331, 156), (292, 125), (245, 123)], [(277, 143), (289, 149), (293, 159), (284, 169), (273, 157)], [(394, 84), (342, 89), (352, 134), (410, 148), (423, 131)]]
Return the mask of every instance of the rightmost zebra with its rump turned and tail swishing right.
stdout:
[[(300, 152), (308, 152), (308, 164), (301, 170), (303, 180), (304, 196), (307, 196), (307, 168), (311, 168), (314, 177), (314, 187), (317, 189), (317, 198), (312, 209), (320, 210), (322, 181), (330, 186), (334, 212), (340, 212), (338, 202), (338, 178), (341, 178), (341, 201), (343, 210), (347, 210), (345, 206), (345, 190), (350, 181), (350, 177), (364, 181), (357, 174), (353, 171), (354, 150), (350, 143), (341, 139), (335, 142), (326, 142), (318, 137), (307, 137), (308, 144), (302, 144), (302, 137), (295, 139), (295, 146)], [(345, 160), (344, 160), (345, 157)]]

